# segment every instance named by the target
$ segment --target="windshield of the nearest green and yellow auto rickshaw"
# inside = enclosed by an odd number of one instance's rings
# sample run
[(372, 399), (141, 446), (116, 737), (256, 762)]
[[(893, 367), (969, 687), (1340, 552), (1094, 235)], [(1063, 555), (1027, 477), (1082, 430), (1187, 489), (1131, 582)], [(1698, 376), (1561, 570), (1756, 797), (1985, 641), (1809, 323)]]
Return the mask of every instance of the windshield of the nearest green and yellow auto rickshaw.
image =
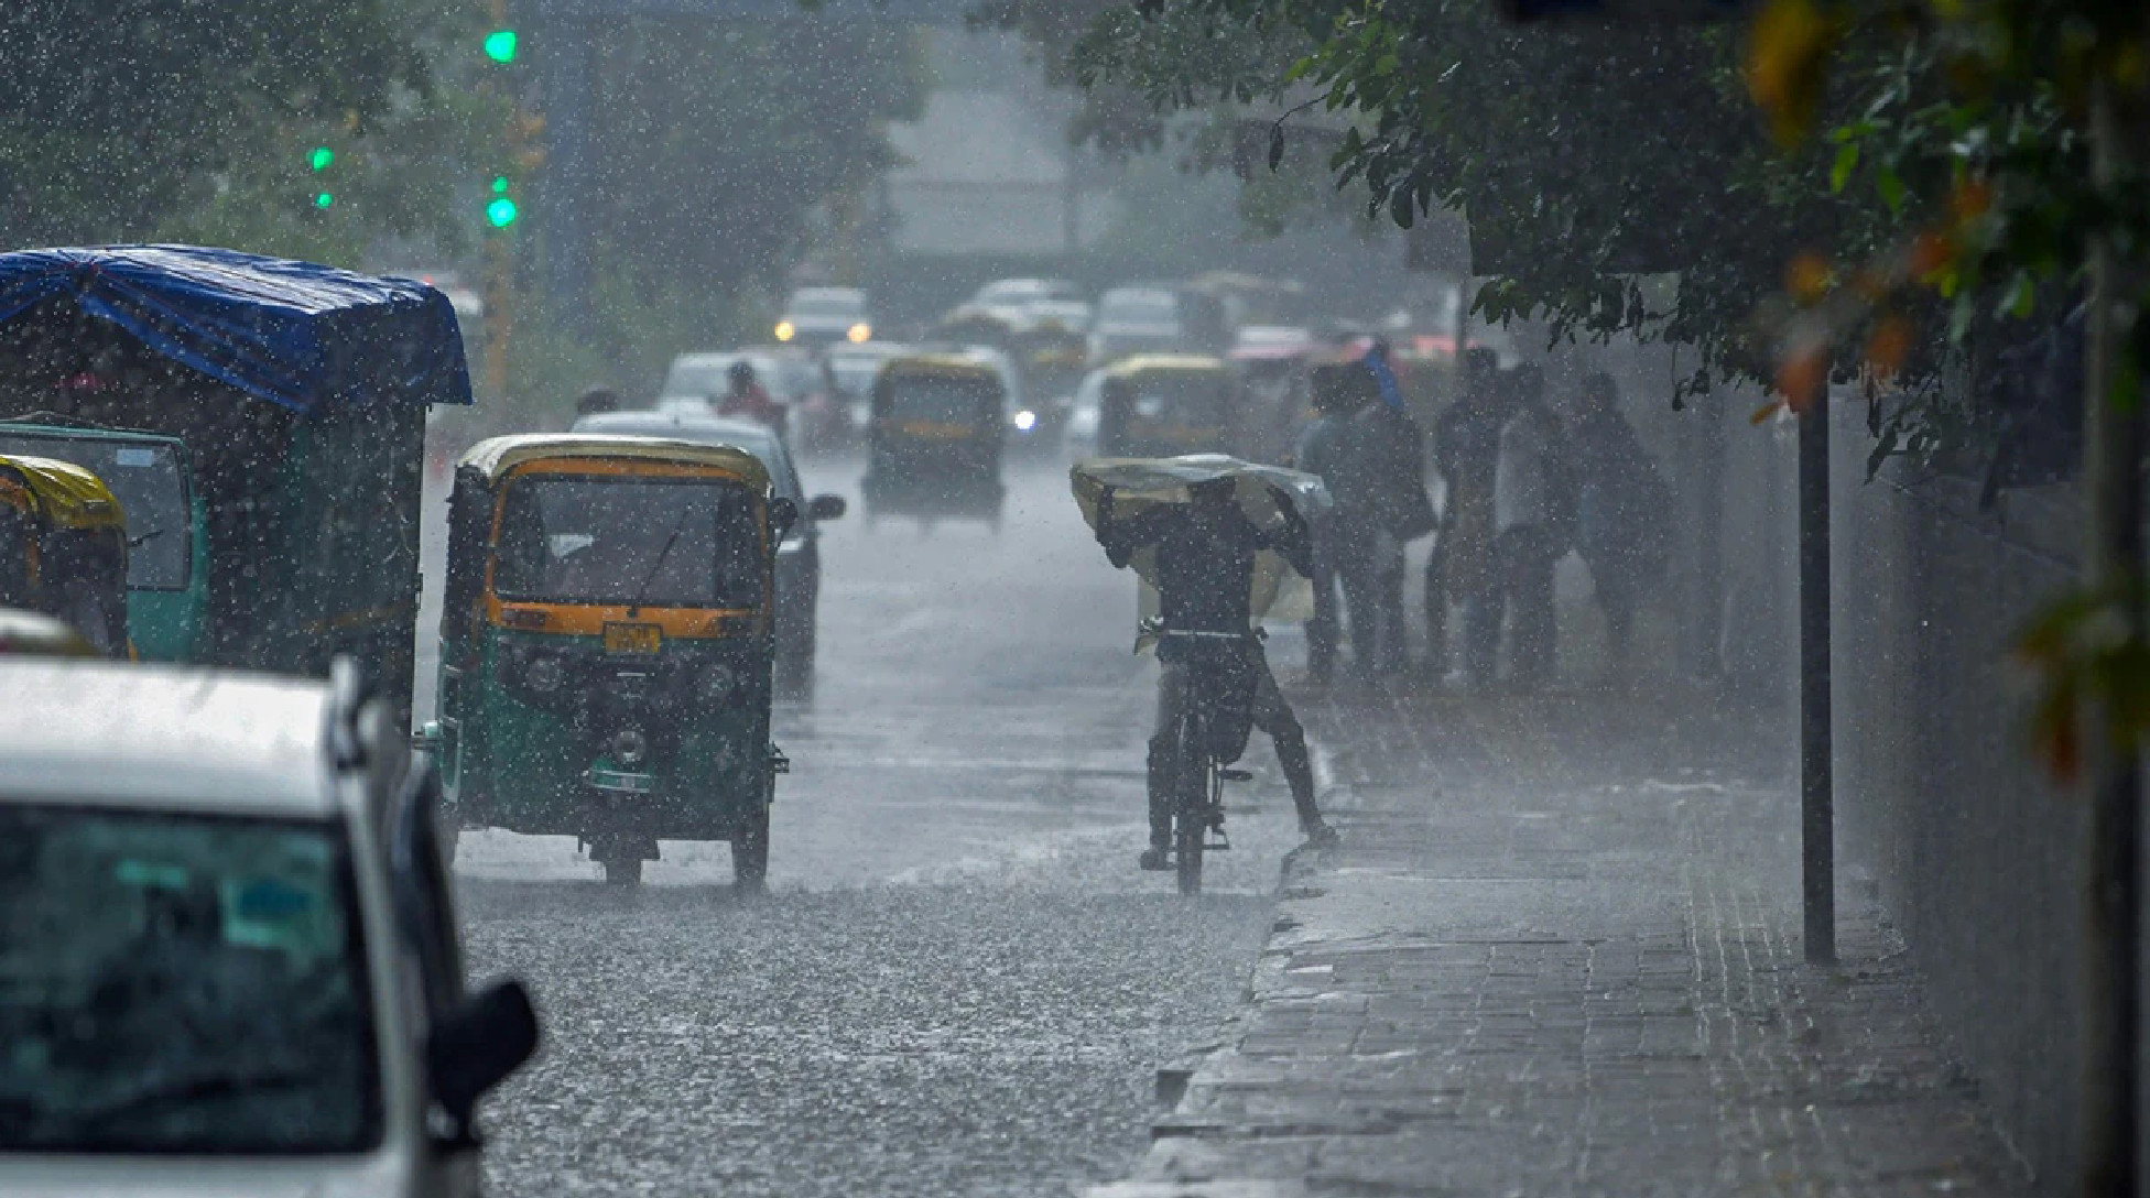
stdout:
[(529, 602), (759, 607), (752, 497), (720, 480), (516, 480), (501, 499), (492, 589)]

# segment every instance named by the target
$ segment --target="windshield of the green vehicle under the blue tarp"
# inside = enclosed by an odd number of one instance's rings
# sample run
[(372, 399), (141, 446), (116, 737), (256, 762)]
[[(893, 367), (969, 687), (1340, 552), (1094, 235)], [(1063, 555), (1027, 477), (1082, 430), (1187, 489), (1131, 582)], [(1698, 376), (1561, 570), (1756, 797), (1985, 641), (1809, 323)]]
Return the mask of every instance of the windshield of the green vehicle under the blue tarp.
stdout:
[(161, 441), (47, 437), (0, 428), (0, 454), (60, 458), (105, 480), (127, 516), (127, 585), (150, 591), (187, 587), (194, 518), (178, 454)]

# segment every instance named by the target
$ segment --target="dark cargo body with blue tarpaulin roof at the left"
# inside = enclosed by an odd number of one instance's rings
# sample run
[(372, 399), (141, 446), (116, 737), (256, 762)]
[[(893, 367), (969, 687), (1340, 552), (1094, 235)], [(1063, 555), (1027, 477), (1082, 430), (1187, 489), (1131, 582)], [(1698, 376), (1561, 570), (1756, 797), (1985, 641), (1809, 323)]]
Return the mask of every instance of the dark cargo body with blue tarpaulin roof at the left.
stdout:
[(421, 282), (196, 245), (0, 254), (0, 437), (183, 469), (142, 546), (185, 607), (159, 656), (350, 654), (408, 712), (426, 409), (469, 402)]

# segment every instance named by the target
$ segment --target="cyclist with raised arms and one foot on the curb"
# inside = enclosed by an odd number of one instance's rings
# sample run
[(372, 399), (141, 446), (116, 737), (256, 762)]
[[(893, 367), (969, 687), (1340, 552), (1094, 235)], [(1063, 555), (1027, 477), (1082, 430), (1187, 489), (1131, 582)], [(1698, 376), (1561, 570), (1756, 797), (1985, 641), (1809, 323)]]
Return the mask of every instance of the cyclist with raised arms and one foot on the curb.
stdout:
[[(1210, 480), (1189, 486), (1191, 503), (1159, 503), (1135, 516), (1120, 518), (1114, 512), (1114, 488), (1105, 488), (1096, 501), (1096, 540), (1105, 546), (1105, 557), (1114, 566), (1127, 568), (1140, 548), (1157, 551), (1157, 600), (1165, 630), (1182, 632), (1241, 632), (1247, 634), (1247, 667), (1253, 673), (1253, 695), (1249, 714), (1253, 727), (1268, 733), (1277, 746), (1277, 764), (1292, 787), (1292, 807), (1299, 809), (1299, 830), (1307, 843), (1331, 845), (1335, 830), (1322, 822), (1314, 802), (1314, 764), (1307, 759), (1307, 736), (1299, 727), (1299, 716), (1277, 690), (1277, 678), (1268, 671), (1268, 656), (1249, 632), (1249, 589), (1253, 585), (1253, 555), (1273, 548), (1301, 574), (1314, 572), (1314, 546), (1307, 538), (1307, 523), (1292, 501), (1273, 490), (1284, 520), (1275, 527), (1258, 527), (1236, 503), (1234, 482)], [(1157, 675), (1157, 727), (1150, 733), (1150, 847), (1142, 854), (1142, 869), (1172, 869), (1167, 850), (1172, 845), (1172, 725), (1193, 701), (1187, 693), (1189, 671), (1180, 652), (1167, 637), (1157, 647), (1163, 667)]]

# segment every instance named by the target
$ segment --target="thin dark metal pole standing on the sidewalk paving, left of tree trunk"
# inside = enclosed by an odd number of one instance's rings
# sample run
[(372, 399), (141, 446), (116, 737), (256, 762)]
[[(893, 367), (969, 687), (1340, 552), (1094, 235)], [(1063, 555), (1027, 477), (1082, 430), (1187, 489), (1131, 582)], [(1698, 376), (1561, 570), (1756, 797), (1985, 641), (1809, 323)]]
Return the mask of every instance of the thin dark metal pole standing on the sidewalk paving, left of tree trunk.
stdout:
[(1806, 959), (1836, 959), (1836, 794), (1830, 742), (1830, 402), (1800, 413), (1800, 882)]

